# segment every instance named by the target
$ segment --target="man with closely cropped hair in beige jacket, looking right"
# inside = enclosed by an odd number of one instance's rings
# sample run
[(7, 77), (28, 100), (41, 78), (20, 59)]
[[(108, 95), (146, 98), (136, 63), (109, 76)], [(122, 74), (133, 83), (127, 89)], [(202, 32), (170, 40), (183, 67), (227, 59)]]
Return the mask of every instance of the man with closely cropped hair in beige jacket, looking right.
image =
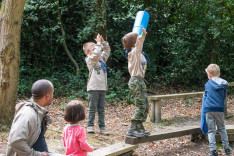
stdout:
[(54, 86), (48, 80), (38, 80), (31, 91), (30, 101), (16, 105), (7, 156), (49, 156), (44, 134), (50, 119), (45, 107), (53, 100)]

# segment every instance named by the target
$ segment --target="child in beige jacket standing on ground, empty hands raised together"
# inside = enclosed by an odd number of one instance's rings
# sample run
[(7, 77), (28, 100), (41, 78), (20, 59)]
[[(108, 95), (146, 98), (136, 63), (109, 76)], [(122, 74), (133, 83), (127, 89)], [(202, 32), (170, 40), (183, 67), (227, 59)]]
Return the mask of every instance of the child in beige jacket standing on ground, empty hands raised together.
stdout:
[(98, 34), (96, 44), (87, 42), (83, 45), (85, 61), (89, 69), (87, 91), (89, 98), (87, 132), (94, 133), (95, 113), (98, 112), (98, 126), (101, 134), (108, 135), (105, 129), (105, 96), (107, 91), (106, 61), (110, 55), (110, 46)]

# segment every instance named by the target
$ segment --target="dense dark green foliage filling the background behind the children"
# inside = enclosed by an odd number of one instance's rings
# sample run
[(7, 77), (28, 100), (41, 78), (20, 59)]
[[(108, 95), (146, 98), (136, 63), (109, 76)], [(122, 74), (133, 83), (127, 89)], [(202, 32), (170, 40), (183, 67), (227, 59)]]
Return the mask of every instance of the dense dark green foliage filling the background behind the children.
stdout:
[[(67, 46), (80, 68), (78, 75), (61, 44), (58, 6)], [(204, 69), (211, 62), (220, 66), (222, 78), (234, 81), (231, 0), (28, 0), (22, 23), (19, 96), (30, 96), (32, 83), (47, 78), (55, 85), (55, 96), (87, 98), (82, 45), (94, 41), (101, 30), (112, 50), (107, 62), (107, 100), (132, 103), (121, 38), (132, 30), (140, 10), (150, 14), (143, 49), (151, 59), (145, 77), (148, 87), (201, 87), (207, 81)]]

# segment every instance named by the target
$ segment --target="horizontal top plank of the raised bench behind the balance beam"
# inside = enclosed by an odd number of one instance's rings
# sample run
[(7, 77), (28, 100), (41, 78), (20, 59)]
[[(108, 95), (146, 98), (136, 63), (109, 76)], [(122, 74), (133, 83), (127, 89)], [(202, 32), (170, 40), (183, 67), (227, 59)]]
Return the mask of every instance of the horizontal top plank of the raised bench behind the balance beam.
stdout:
[(168, 94), (168, 95), (153, 95), (153, 96), (148, 96), (148, 99), (151, 101), (155, 101), (155, 100), (173, 99), (173, 98), (193, 98), (193, 97), (202, 97), (203, 94), (204, 94), (204, 92)]

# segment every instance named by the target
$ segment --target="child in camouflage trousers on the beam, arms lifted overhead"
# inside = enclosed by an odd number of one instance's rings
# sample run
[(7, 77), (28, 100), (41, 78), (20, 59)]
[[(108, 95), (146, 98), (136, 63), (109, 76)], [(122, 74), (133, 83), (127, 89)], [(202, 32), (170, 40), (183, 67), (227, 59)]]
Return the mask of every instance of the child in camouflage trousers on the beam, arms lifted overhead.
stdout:
[(132, 91), (136, 104), (136, 109), (131, 119), (131, 126), (127, 131), (127, 135), (134, 137), (150, 135), (150, 132), (145, 131), (142, 124), (146, 121), (149, 110), (146, 84), (144, 82), (147, 59), (142, 52), (147, 32), (144, 28), (142, 31), (142, 35), (138, 36), (137, 33), (131, 32), (122, 38), (122, 44), (126, 49), (126, 56), (128, 58), (128, 70), (131, 75), (128, 86)]

